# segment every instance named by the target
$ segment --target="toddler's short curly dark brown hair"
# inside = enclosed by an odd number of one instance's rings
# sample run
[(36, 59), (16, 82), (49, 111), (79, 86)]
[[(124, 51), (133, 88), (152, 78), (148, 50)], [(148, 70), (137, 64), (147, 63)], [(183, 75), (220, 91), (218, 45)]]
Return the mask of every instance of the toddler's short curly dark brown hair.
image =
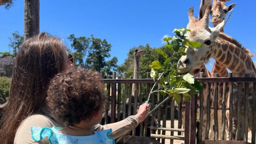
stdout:
[(73, 67), (58, 73), (49, 83), (47, 106), (65, 126), (91, 119), (103, 108), (103, 80), (98, 72)]

